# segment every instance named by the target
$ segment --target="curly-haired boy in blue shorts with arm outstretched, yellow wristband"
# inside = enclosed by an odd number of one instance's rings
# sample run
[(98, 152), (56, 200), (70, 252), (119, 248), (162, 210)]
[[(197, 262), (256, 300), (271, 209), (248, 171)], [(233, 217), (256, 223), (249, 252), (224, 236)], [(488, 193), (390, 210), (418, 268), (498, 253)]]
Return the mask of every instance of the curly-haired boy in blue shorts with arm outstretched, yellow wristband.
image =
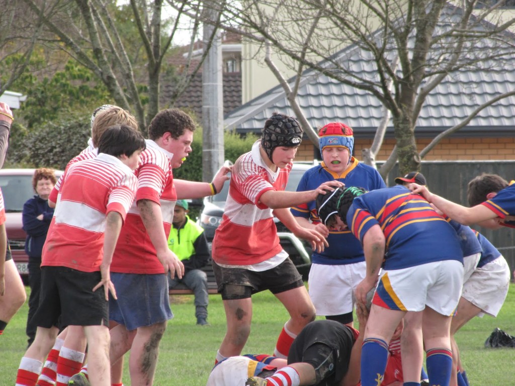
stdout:
[(212, 186), (220, 190), (227, 179), (220, 172), (213, 183), (183, 181), (176, 191), (172, 169), (192, 151), (195, 128), (193, 119), (178, 109), (160, 111), (150, 122), (150, 139), (136, 169), (138, 191), (113, 256), (111, 276), (118, 299), (110, 299), (109, 314), (118, 325), (111, 329), (111, 359), (114, 363), (130, 349), (131, 384), (152, 383), (159, 342), (173, 318), (166, 275), (181, 278), (184, 273), (168, 248), (175, 202), (195, 198), (187, 196), (190, 189), (200, 195), (196, 197), (209, 196)]

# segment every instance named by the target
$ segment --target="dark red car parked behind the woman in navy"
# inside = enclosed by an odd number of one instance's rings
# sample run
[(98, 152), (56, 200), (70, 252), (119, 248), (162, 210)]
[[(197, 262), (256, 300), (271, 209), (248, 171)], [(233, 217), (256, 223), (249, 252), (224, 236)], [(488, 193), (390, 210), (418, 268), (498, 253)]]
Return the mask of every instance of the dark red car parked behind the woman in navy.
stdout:
[[(36, 169), (0, 169), (0, 188), (4, 196), (6, 231), (12, 259), (24, 283), (28, 278), (28, 260), (25, 253), (25, 237), (22, 229), (23, 204), (36, 193), (32, 189), (32, 176)], [(59, 178), (62, 171), (56, 170)]]

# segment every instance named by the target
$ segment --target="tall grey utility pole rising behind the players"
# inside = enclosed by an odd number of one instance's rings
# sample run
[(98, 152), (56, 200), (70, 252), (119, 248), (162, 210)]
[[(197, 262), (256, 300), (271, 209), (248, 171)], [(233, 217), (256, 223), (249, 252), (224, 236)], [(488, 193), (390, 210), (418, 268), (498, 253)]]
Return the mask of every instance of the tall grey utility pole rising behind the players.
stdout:
[[(212, 0), (204, 2), (204, 17), (217, 21)], [(211, 48), (208, 42), (215, 33)], [(221, 32), (214, 25), (203, 26), (203, 49), (209, 49), (202, 64), (202, 181), (211, 181), (224, 164), (224, 95), (222, 93)]]

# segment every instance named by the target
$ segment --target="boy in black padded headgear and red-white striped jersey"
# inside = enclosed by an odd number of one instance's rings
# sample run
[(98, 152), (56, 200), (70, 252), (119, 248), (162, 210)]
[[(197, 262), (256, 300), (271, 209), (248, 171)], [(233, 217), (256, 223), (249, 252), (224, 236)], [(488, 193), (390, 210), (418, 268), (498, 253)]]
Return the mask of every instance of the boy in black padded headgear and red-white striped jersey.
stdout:
[(320, 251), (327, 245), (324, 235), (300, 226), (289, 207), (315, 200), (324, 187), (334, 190), (333, 186), (343, 184), (333, 181), (314, 190), (284, 191), (302, 133), (297, 120), (274, 113), (265, 122), (262, 139), (232, 168), (225, 213), (213, 240), (213, 271), (227, 319), (216, 361), (241, 354), (250, 334), (251, 295), (255, 292), (269, 289), (291, 315), (274, 356), (286, 358), (291, 342), (315, 319), (315, 307), (279, 243), (273, 217)]

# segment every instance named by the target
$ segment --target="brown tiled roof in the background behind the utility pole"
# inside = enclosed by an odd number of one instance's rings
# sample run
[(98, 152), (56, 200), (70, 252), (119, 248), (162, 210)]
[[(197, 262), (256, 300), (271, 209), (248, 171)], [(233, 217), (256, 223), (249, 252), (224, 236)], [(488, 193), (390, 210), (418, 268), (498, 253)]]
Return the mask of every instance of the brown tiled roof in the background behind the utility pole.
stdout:
[[(224, 112), (233, 111), (242, 105), (242, 75), (241, 73), (224, 73), (222, 78), (224, 94)], [(161, 106), (168, 106), (174, 85), (163, 84), (161, 91)], [(199, 121), (202, 119), (202, 74), (196, 74), (190, 86), (181, 94), (174, 107), (187, 108), (195, 112)]]

